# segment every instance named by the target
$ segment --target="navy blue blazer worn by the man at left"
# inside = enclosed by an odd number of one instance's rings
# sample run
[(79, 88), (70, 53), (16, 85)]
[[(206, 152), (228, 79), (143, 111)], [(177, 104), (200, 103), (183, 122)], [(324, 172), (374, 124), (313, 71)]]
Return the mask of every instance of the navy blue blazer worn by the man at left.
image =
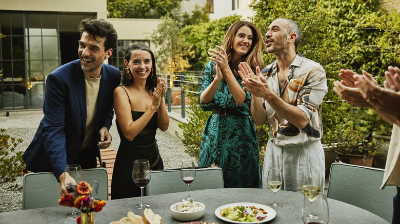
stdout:
[[(120, 82), (121, 72), (103, 64), (98, 92), (97, 133), (102, 127), (110, 129), (114, 117), (113, 92)], [(43, 113), (44, 118), (23, 159), (27, 170), (53, 171), (58, 178), (65, 167), (74, 162), (85, 139), (86, 87), (79, 59), (60, 66), (47, 76)], [(93, 139), (93, 144), (97, 142), (97, 138)]]

